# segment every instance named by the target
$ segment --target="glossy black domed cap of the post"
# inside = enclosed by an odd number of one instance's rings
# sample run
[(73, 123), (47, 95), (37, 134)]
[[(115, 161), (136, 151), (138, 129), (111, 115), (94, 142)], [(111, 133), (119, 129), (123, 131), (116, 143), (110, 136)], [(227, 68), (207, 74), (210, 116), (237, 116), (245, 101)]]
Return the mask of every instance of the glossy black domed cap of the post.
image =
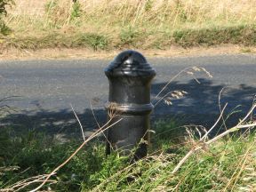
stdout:
[(108, 68), (107, 76), (156, 76), (156, 71), (151, 68), (146, 58), (132, 50), (119, 53)]

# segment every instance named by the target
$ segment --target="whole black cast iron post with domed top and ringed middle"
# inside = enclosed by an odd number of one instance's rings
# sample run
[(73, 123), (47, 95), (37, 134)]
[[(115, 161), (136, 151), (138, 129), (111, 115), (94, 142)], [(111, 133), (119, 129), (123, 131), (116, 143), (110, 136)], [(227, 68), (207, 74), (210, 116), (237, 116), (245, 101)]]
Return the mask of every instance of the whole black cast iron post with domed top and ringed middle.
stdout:
[(124, 51), (105, 69), (105, 74), (109, 81), (108, 120), (113, 118), (109, 111), (117, 114), (111, 123), (122, 118), (107, 131), (107, 155), (111, 150), (129, 155), (135, 148), (134, 160), (147, 156), (149, 114), (153, 109), (150, 87), (155, 69), (140, 52)]

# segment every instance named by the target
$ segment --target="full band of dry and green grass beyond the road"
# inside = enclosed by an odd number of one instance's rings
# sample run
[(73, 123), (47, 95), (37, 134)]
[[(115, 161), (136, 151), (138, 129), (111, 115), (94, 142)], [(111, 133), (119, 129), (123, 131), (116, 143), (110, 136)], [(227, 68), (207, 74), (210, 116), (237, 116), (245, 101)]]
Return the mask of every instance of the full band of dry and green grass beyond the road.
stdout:
[[(28, 44), (30, 34), (41, 36), (41, 41), (48, 42), (44, 46), (42, 44), (45, 48), (52, 47), (48, 34), (67, 38), (75, 38), (79, 34), (108, 36), (108, 44), (100, 45), (99, 49), (256, 44), (256, 8), (249, 0), (243, 3), (238, 0), (100, 0), (93, 3), (81, 0), (75, 4), (69, 0), (51, 0), (41, 9), (42, 4), (33, 1), (30, 6), (39, 4), (37, 8), (41, 12), (31, 14), (24, 12), (27, 4), (18, 4), (6, 19), (13, 29), (14, 38), (19, 39), (13, 41), (17, 47), (26, 47), (20, 44)], [(60, 46), (69, 46), (62, 43), (64, 39), (56, 41)], [(83, 38), (79, 40), (83, 42)], [(77, 46), (92, 47), (83, 43)]]

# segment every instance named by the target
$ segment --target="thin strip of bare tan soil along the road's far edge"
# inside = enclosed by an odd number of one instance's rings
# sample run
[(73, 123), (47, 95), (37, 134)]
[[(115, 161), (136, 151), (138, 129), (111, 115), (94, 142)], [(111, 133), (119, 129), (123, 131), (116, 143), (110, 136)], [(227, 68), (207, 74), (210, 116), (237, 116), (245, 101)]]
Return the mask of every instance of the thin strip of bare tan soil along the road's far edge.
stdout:
[[(193, 56), (213, 56), (220, 54), (235, 53), (256, 53), (256, 47), (242, 47), (238, 45), (222, 45), (214, 47), (194, 47), (184, 49), (181, 47), (171, 47), (168, 50), (138, 50), (146, 57), (193, 57)], [(90, 49), (42, 49), (42, 50), (18, 50), (5, 49), (0, 51), (0, 60), (97, 60), (113, 59), (116, 51), (92, 51)]]

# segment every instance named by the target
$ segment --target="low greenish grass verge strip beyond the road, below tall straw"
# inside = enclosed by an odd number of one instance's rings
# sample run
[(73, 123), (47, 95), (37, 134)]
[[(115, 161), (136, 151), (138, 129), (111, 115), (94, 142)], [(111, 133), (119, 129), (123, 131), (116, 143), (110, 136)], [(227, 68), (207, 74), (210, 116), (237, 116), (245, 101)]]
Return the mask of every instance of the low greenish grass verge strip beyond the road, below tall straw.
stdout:
[[(180, 29), (174, 30), (171, 34), (158, 35), (150, 44), (147, 44), (152, 36), (146, 35), (135, 37), (120, 37), (113, 41), (109, 34), (98, 35), (93, 33), (77, 33), (75, 35), (61, 34), (52, 32), (52, 34), (40, 36), (2, 36), (2, 45), (5, 48), (18, 49), (45, 49), (45, 48), (81, 48), (87, 47), (92, 50), (115, 50), (122, 48), (135, 49), (170, 49), (172, 45), (188, 48), (191, 46), (211, 46), (221, 44), (240, 44), (244, 46), (256, 45), (256, 27), (234, 26), (234, 27), (216, 27), (202, 29)], [(112, 37), (114, 38), (114, 37)], [(112, 43), (111, 43), (112, 42)]]

